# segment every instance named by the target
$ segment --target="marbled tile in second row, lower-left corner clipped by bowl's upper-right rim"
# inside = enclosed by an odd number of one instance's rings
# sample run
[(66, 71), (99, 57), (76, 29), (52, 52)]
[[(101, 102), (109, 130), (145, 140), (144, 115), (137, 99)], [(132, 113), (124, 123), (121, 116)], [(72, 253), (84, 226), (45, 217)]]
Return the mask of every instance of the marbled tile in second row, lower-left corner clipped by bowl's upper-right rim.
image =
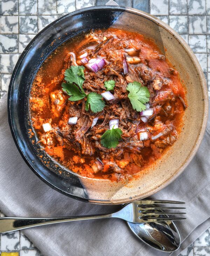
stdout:
[(187, 25), (187, 16), (186, 15), (180, 15), (180, 16), (170, 15), (169, 16), (169, 25), (179, 34), (188, 33), (188, 25)]

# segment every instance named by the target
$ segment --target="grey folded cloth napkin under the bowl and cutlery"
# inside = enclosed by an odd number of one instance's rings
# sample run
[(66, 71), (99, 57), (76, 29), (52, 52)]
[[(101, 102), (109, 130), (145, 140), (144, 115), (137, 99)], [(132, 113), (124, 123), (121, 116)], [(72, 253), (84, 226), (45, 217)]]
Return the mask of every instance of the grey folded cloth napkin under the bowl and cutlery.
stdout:
[[(201, 146), (184, 172), (155, 199), (185, 201), (187, 220), (176, 222), (179, 253), (210, 226), (210, 120)], [(93, 205), (60, 194), (26, 165), (10, 133), (7, 96), (0, 101), (0, 210), (7, 216), (47, 217), (108, 213), (117, 206)], [(141, 241), (123, 220), (78, 221), (23, 231), (45, 256), (163, 255)]]

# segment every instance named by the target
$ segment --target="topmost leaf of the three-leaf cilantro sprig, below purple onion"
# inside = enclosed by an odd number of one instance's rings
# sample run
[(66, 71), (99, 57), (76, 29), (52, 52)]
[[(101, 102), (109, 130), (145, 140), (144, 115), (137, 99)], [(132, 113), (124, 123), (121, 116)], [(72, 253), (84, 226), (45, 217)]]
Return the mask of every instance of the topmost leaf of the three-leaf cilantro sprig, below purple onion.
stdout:
[(66, 69), (64, 72), (65, 81), (77, 84), (82, 92), (84, 92), (82, 85), (85, 81), (84, 69), (85, 68), (83, 66), (71, 65), (71, 67)]

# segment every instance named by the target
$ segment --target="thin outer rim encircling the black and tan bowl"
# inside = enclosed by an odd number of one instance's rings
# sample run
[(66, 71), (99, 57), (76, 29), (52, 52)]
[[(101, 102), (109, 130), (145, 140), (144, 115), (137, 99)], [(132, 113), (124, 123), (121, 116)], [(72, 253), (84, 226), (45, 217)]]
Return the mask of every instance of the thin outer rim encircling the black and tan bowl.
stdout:
[[(198, 74), (199, 74), (199, 77), (201, 78), (201, 80), (203, 79), (204, 80), (204, 75), (203, 75), (203, 72), (202, 72), (202, 69), (197, 61), (197, 59), (195, 58), (193, 52), (191, 51), (191, 49), (189, 48), (189, 46), (187, 45), (187, 43), (181, 38), (180, 35), (178, 35), (173, 29), (171, 29), (168, 25), (166, 25), (165, 23), (163, 23), (162, 21), (158, 20), (157, 18), (155, 18), (154, 16), (148, 14), (148, 13), (145, 13), (145, 12), (142, 12), (142, 11), (139, 11), (139, 10), (136, 10), (136, 9), (133, 9), (133, 8), (129, 8), (129, 7), (122, 7), (122, 6), (94, 6), (94, 7), (87, 7), (87, 8), (84, 8), (84, 9), (80, 9), (80, 10), (77, 10), (75, 12), (72, 12), (70, 14), (66, 14), (60, 18), (58, 18), (57, 20), (55, 20), (54, 22), (50, 23), (47, 27), (45, 27), (43, 30), (41, 30), (41, 32), (39, 32), (31, 41), (30, 43), (28, 44), (28, 46), (26, 47), (26, 49), (23, 51), (23, 53), (21, 54), (17, 64), (15, 65), (15, 68), (14, 68), (14, 71), (13, 71), (13, 74), (12, 74), (12, 78), (11, 78), (11, 81), (10, 81), (10, 84), (9, 84), (9, 90), (8, 90), (8, 119), (9, 119), (9, 126), (10, 126), (10, 129), (11, 129), (11, 132), (12, 132), (12, 136), (13, 136), (13, 139), (15, 141), (15, 144), (16, 146), (18, 147), (18, 150), (22, 156), (22, 158), (25, 160), (25, 162), (27, 163), (27, 165), (32, 169), (32, 171), (41, 179), (43, 180), (47, 185), (49, 185), (50, 187), (56, 189), (58, 192), (61, 192), (67, 196), (70, 196), (74, 199), (79, 199), (79, 200), (82, 200), (82, 201), (89, 201), (89, 202), (95, 202), (95, 203), (106, 203), (106, 204), (117, 204), (117, 203), (121, 203), (122, 200), (114, 200), (114, 203), (109, 201), (109, 200), (97, 200), (97, 199), (90, 199), (88, 198), (87, 195), (82, 195), (79, 194), (79, 193), (76, 193), (76, 194), (72, 194), (70, 191), (66, 192), (64, 191), (64, 189), (62, 189), (62, 186), (59, 187), (59, 186), (56, 186), (55, 183), (52, 184), (52, 182), (49, 180), (49, 179), (46, 179), (45, 177), (47, 175), (42, 175), (41, 171), (36, 169), (36, 166), (41, 166), (41, 161), (40, 159), (37, 159), (36, 157), (36, 161), (32, 161), (33, 158), (29, 158), (27, 157), (25, 154), (24, 154), (24, 151), (26, 152), (26, 150), (24, 150), (24, 147), (22, 145), (19, 145), (19, 141), (20, 141), (20, 138), (19, 138), (19, 135), (18, 135), (18, 127), (16, 127), (14, 125), (14, 120), (13, 120), (13, 116), (12, 116), (12, 111), (14, 112), (14, 102), (12, 102), (12, 97), (14, 98), (15, 96), (13, 95), (13, 86), (14, 86), (14, 80), (17, 79), (16, 78), (16, 74), (20, 74), (21, 70), (20, 70), (20, 66), (22, 64), (22, 60), (25, 56), (27, 56), (27, 53), (29, 52), (29, 50), (31, 48), (34, 47), (34, 42), (42, 36), (43, 33), (45, 33), (48, 29), (50, 29), (51, 27), (53, 27), (54, 25), (56, 25), (56, 23), (62, 21), (65, 23), (65, 20), (67, 18), (72, 18), (73, 16), (76, 16), (78, 14), (84, 14), (86, 12), (89, 12), (89, 11), (92, 11), (92, 12), (96, 12), (97, 11), (116, 11), (116, 12), (126, 12), (126, 13), (131, 13), (131, 14), (137, 14), (139, 16), (142, 16), (143, 18), (145, 19), (149, 19), (151, 20), (152, 22), (156, 23), (158, 26), (164, 28), (165, 30), (167, 30), (167, 32), (169, 32), (172, 36), (175, 37), (175, 39), (178, 39), (178, 41), (182, 44), (182, 46), (184, 48), (186, 48), (186, 51), (188, 53), (188, 55), (191, 57), (191, 60), (196, 63), (196, 65), (198, 66), (197, 70), (198, 70)], [(47, 34), (47, 33), (46, 33)], [(41, 40), (41, 39), (40, 39)], [(37, 43), (39, 41), (37, 40)], [(53, 49), (54, 50), (54, 49)], [(50, 54), (51, 52), (49, 52)], [(48, 54), (48, 55), (49, 55)], [(24, 62), (27, 62), (26, 60), (23, 60), (23, 63)], [(204, 83), (204, 82), (203, 82)], [(207, 94), (207, 88), (204, 88), (203, 86), (203, 92), (205, 92), (205, 94)], [(23, 98), (23, 97), (22, 97)], [(24, 98), (23, 98), (24, 99)], [(22, 106), (22, 105), (21, 105)], [(19, 107), (19, 106), (17, 106)], [(207, 101), (205, 100), (205, 107), (204, 107), (204, 110), (205, 110), (205, 113), (207, 113), (207, 109), (208, 109), (208, 106), (207, 106)], [(13, 113), (14, 115), (14, 113)], [(19, 113), (20, 115), (20, 113)], [(19, 123), (18, 123), (19, 124)], [(182, 167), (180, 168), (180, 171), (178, 173), (176, 173), (170, 180), (167, 180), (164, 184), (162, 184), (161, 186), (159, 186), (157, 189), (155, 189), (153, 191), (153, 193), (159, 191), (161, 188), (165, 187), (166, 185), (168, 185), (170, 182), (172, 182), (175, 178), (177, 178), (177, 176), (183, 171), (183, 169), (189, 164), (190, 160), (194, 157), (196, 151), (197, 151), (197, 148), (198, 146), (200, 145), (200, 142), (201, 142), (201, 139), (203, 137), (203, 133), (204, 133), (204, 130), (205, 130), (205, 126), (207, 124), (207, 119), (203, 121), (202, 123), (202, 129), (201, 129), (201, 134), (200, 136), (198, 136), (197, 138), (197, 144), (196, 146), (194, 147), (193, 151), (190, 153), (190, 155), (188, 156), (187, 158), (187, 161), (182, 165)], [(26, 136), (25, 136), (26, 137)], [(21, 138), (22, 139), (22, 138)], [(23, 142), (25, 142), (23, 140)], [(27, 141), (26, 141), (27, 142)], [(31, 150), (32, 152), (32, 150)], [(33, 155), (33, 152), (26, 152), (27, 155), (30, 154), (32, 157), (34, 157)], [(50, 169), (48, 167), (44, 167), (44, 170), (47, 170), (48, 172), (48, 176), (51, 175), (55, 175), (55, 173), (50, 173)], [(45, 176), (45, 177), (44, 177)], [(57, 183), (59, 183), (59, 177), (56, 178), (57, 179)], [(60, 184), (60, 183), (59, 183)], [(78, 187), (78, 181), (75, 182), (77, 188)], [(83, 192), (85, 191), (84, 188), (83, 189)], [(80, 190), (82, 190), (80, 189)], [(85, 192), (86, 193), (86, 192)], [(148, 192), (149, 194), (145, 195), (145, 196), (148, 196), (148, 195), (151, 195), (153, 193), (151, 192)], [(144, 197), (145, 197), (144, 196)], [(133, 201), (133, 200), (137, 200), (137, 199), (134, 199), (133, 197), (132, 198), (125, 198), (123, 199), (124, 202), (128, 202), (128, 201)]]

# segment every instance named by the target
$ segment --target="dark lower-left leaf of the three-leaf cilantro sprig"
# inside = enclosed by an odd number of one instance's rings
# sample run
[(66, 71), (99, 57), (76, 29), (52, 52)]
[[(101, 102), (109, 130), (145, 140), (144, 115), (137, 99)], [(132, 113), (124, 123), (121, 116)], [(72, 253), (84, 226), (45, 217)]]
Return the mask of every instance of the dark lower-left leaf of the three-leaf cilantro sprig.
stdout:
[(86, 96), (85, 92), (81, 92), (79, 88), (73, 83), (62, 83), (61, 86), (63, 87), (63, 91), (71, 96), (69, 101), (79, 101)]

